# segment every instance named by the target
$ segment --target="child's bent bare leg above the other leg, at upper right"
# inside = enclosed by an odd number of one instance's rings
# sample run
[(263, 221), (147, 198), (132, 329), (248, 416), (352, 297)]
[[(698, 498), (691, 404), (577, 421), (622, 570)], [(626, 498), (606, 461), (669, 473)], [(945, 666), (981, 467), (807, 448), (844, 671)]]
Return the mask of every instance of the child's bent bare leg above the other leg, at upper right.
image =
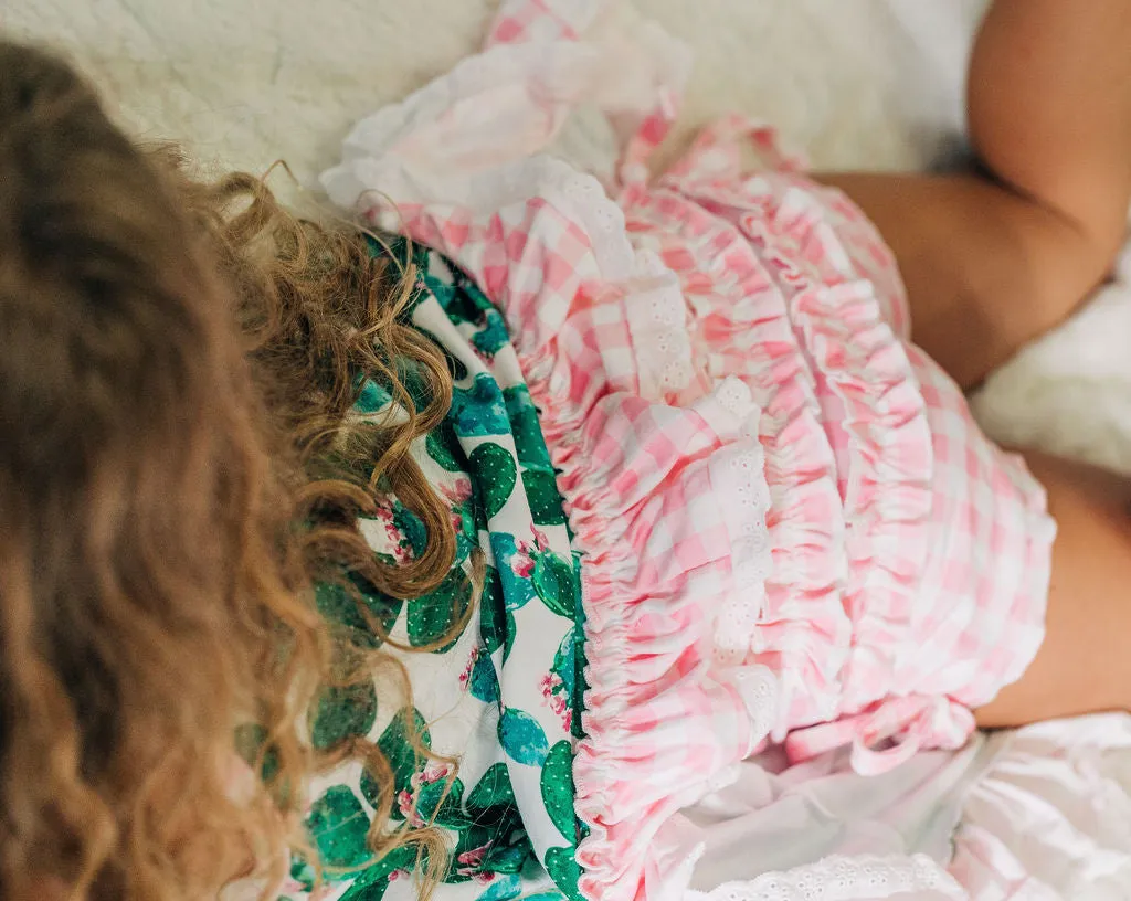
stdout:
[(974, 47), (985, 174), (829, 175), (899, 260), (915, 340), (962, 385), (1107, 276), (1131, 199), (1131, 0), (995, 0)]

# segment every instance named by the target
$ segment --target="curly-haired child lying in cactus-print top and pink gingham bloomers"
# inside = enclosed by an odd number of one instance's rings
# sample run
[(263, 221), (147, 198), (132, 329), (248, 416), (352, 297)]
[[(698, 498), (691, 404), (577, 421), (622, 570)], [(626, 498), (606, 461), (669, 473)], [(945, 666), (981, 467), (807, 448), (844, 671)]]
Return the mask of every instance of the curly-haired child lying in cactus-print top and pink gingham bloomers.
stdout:
[[(836, 190), (737, 119), (650, 176), (682, 47), (510, 0), (326, 174), (369, 234), (190, 183), (5, 46), (0, 893), (680, 899), (683, 811), (769, 745), (881, 773), (1128, 707), (1122, 500), (1042, 487), (910, 341), (972, 383), (1102, 277), (1126, 79), (1026, 103), (1062, 47), (1123, 72), (1125, 6), (995, 5), (992, 177)], [(582, 107), (615, 167), (547, 151)]]

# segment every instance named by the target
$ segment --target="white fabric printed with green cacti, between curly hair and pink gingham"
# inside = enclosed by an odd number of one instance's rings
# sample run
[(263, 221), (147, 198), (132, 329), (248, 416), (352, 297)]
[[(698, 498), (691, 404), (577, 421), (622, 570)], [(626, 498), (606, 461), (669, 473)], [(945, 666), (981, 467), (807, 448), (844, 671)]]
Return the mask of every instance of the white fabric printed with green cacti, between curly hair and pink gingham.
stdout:
[[(387, 634), (425, 650), (398, 652), (411, 704), (382, 684), (381, 674), (372, 685), (327, 688), (312, 721), (313, 742), (329, 747), (356, 736), (375, 743), (394, 771), (394, 825), (444, 831), (450, 864), (435, 901), (577, 899), (579, 562), (502, 318), (438, 255), (421, 250), (415, 262), (421, 289), (406, 317), (441, 346), (456, 382), (446, 422), (418, 441), (414, 454), (450, 506), (456, 566), (416, 600), (357, 584), (371, 616), (343, 589), (319, 590), (326, 618), (364, 646), (378, 647)], [(412, 393), (412, 380), (406, 384)], [(387, 390), (366, 382), (359, 391), (357, 416), (390, 415)], [(394, 562), (411, 560), (426, 543), (420, 519), (391, 495), (379, 499), (361, 529), (374, 553)], [(467, 578), (474, 547), (486, 562), (477, 599)], [(473, 604), (468, 625), (452, 639), (451, 624)], [(359, 763), (316, 786), (307, 828), (330, 901), (416, 898), (417, 852), (403, 848), (377, 858), (366, 843), (379, 803), (377, 782)], [(284, 896), (308, 898), (313, 877), (295, 855)]]

